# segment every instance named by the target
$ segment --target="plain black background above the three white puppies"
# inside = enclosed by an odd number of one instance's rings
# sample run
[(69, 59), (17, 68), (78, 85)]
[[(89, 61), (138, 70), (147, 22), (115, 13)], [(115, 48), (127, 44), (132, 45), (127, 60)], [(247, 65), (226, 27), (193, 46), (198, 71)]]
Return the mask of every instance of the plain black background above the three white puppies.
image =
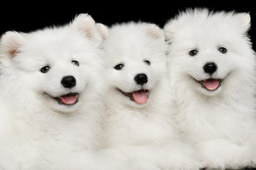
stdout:
[[(47, 26), (69, 23), (75, 15), (88, 13), (97, 23), (111, 26), (126, 21), (145, 21), (163, 27), (179, 10), (206, 7), (213, 11), (237, 11), (250, 13), (249, 31), (252, 47), (256, 50), (256, 6), (253, 1), (34, 1), (19, 3), (14, 1), (1, 4), (0, 34), (7, 30), (30, 32)], [(4, 2), (2, 2), (4, 3)]]

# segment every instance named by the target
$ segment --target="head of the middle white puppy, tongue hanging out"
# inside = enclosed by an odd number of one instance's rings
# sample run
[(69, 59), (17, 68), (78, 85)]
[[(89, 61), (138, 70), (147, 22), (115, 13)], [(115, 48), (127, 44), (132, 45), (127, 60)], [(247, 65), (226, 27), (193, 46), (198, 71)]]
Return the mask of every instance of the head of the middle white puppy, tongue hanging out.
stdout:
[(126, 106), (146, 106), (166, 68), (161, 30), (146, 23), (116, 25), (102, 46), (112, 99)]

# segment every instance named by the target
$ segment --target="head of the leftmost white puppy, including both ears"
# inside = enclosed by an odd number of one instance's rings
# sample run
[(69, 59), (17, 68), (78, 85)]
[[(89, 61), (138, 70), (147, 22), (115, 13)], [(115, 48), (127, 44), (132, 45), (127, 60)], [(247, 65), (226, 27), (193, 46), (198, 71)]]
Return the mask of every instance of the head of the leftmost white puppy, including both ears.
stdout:
[(80, 96), (95, 84), (102, 67), (97, 49), (100, 40), (85, 35), (81, 28), (83, 23), (89, 27), (93, 22), (90, 16), (80, 15), (70, 26), (6, 33), (1, 40), (6, 55), (1, 61), (10, 81), (16, 82), (11, 84), (12, 89), (26, 93), (14, 90), (13, 95), (20, 96), (24, 103), (38, 101), (53, 111), (75, 111)]

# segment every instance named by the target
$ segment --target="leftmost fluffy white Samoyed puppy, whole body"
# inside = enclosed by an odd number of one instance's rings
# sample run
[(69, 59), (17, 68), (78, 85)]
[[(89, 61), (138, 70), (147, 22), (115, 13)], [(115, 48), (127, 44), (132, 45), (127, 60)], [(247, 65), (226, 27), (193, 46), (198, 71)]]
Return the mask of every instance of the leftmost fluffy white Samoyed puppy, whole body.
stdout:
[(97, 152), (105, 96), (101, 42), (85, 13), (66, 26), (2, 35), (0, 169), (126, 167)]

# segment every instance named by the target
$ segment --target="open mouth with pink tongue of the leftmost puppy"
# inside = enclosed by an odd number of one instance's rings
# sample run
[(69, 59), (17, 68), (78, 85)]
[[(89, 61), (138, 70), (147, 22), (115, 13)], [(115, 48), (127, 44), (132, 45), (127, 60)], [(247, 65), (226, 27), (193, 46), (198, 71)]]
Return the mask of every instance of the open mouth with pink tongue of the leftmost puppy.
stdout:
[[(50, 94), (45, 93), (47, 96), (50, 96)], [(70, 93), (70, 94), (65, 94), (63, 96), (59, 97), (53, 97), (50, 96), (51, 98), (55, 99), (58, 101), (60, 105), (67, 105), (67, 106), (72, 106), (75, 105), (75, 103), (78, 103), (79, 101), (79, 94), (78, 93)]]

